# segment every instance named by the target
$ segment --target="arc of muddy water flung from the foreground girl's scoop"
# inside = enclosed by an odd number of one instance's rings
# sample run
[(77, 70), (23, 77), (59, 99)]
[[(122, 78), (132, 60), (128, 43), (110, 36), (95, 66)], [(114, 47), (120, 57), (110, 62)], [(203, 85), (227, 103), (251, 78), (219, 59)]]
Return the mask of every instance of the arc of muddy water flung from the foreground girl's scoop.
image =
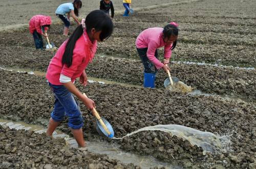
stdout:
[(148, 126), (148, 127), (144, 127), (139, 130), (136, 130), (121, 138), (114, 137), (113, 139), (123, 139), (124, 137), (131, 136), (140, 131), (148, 131), (148, 130), (151, 130), (151, 131), (159, 130), (159, 131), (169, 133), (172, 136), (175, 135), (179, 138), (186, 139), (192, 146), (197, 145), (198, 147), (202, 147), (203, 155), (205, 155), (206, 152), (209, 152), (211, 154), (217, 153), (219, 149), (223, 147), (219, 138), (214, 133), (200, 131), (190, 127), (185, 127), (185, 126), (176, 125), (176, 124)]

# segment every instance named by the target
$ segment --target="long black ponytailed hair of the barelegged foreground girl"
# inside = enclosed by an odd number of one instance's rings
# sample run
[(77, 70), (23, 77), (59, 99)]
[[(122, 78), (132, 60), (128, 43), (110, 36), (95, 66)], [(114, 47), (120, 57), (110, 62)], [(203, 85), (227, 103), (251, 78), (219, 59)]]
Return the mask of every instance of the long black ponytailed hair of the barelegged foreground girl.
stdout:
[[(108, 39), (114, 30), (114, 24), (111, 18), (101, 10), (95, 10), (90, 12), (86, 17), (86, 32), (88, 36), (91, 34), (91, 30), (94, 28), (96, 32), (101, 31), (99, 38), (101, 41)], [(62, 56), (62, 65), (66, 64), (67, 67), (72, 65), (73, 50), (76, 41), (82, 36), (83, 29), (82, 24), (77, 26), (74, 33), (66, 40), (66, 48)]]

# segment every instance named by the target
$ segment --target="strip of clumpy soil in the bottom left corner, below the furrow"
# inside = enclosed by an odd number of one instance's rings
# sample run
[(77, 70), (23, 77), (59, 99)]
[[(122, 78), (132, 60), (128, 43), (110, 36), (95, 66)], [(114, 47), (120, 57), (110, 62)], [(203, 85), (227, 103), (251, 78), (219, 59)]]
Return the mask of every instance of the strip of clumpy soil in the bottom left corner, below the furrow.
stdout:
[[(0, 125), (1, 168), (139, 168), (87, 148), (74, 149), (63, 138)], [(18, 139), (17, 139), (18, 138)]]

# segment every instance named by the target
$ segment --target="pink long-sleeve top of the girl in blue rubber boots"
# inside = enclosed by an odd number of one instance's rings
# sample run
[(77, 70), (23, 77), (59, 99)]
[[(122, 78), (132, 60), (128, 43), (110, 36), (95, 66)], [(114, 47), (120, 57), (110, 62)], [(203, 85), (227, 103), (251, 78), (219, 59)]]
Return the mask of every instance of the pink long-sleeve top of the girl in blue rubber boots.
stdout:
[(151, 27), (141, 32), (136, 39), (136, 47), (147, 47), (146, 56), (149, 60), (151, 60), (157, 69), (162, 68), (164, 64), (155, 57), (156, 49), (164, 46), (164, 58), (170, 58), (170, 54), (172, 54), (172, 50), (170, 50), (170, 48), (172, 48), (173, 44), (167, 45), (163, 41), (162, 32), (163, 28), (161, 27)]

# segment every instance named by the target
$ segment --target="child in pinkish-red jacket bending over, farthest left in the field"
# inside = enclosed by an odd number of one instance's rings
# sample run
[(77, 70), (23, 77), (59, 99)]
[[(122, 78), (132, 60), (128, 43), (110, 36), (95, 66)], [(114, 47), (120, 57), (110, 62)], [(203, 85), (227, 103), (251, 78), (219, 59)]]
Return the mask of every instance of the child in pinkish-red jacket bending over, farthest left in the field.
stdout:
[(42, 35), (46, 35), (48, 28), (50, 29), (51, 18), (50, 16), (35, 15), (29, 21), (29, 31), (33, 35), (35, 48), (43, 49), (44, 41), (42, 40)]

